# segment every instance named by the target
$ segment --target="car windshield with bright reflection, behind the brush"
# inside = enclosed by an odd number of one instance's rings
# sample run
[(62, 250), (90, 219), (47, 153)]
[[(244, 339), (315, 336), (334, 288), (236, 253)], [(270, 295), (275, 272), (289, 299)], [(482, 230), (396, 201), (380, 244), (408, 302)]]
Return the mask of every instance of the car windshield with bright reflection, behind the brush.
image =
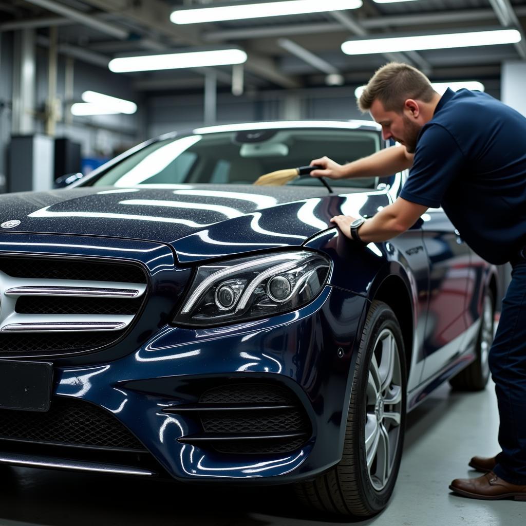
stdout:
[[(181, 184), (252, 184), (261, 175), (308, 165), (327, 156), (345, 164), (378, 151), (375, 131), (280, 129), (226, 131), (172, 137), (150, 144), (86, 181), (89, 186), (166, 187)], [(331, 180), (332, 186), (375, 188), (376, 178)], [(288, 185), (317, 186), (301, 177)]]

